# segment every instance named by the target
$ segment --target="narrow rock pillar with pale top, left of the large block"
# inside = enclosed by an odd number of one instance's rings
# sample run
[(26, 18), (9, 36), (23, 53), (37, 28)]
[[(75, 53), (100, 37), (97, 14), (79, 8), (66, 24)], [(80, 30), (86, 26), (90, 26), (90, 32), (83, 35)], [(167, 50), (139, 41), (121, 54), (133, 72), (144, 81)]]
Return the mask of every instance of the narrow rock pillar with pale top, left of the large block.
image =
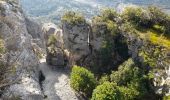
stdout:
[(43, 26), (46, 40), (47, 57), (46, 61), (49, 65), (65, 66), (64, 42), (62, 30), (52, 23)]

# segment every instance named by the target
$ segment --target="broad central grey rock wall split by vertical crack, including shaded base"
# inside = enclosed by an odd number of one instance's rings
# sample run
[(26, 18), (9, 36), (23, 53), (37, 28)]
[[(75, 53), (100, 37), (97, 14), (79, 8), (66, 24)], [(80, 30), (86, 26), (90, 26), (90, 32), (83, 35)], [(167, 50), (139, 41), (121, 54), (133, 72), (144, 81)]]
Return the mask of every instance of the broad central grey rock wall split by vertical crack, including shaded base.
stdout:
[[(71, 19), (71, 18), (70, 18)], [(69, 61), (72, 65), (88, 66), (94, 72), (106, 72), (113, 69), (123, 61), (117, 53), (113, 36), (108, 36), (112, 47), (109, 49), (104, 44), (106, 33), (110, 34), (107, 25), (100, 22), (89, 25), (86, 21), (79, 23), (70, 23), (67, 20), (62, 21), (64, 48), (70, 52)], [(105, 52), (106, 51), (106, 52)], [(112, 61), (111, 61), (112, 60)], [(105, 67), (103, 67), (105, 66)]]

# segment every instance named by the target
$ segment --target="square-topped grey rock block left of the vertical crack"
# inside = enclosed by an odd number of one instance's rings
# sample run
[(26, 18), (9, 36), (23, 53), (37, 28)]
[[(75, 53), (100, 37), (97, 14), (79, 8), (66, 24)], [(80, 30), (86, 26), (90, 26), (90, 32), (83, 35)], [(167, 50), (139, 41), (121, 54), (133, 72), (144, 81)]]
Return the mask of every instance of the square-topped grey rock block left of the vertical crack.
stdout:
[(90, 26), (87, 23), (70, 25), (64, 22), (62, 25), (63, 40), (65, 49), (72, 54), (74, 61), (82, 59), (89, 54)]

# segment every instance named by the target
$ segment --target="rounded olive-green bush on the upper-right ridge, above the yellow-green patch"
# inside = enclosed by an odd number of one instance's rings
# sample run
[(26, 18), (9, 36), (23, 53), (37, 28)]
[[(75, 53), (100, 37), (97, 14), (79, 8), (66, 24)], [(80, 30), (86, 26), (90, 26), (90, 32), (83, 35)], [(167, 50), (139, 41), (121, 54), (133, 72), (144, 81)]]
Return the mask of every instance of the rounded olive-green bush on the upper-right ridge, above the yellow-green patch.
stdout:
[(124, 21), (132, 22), (137, 26), (150, 27), (149, 13), (140, 7), (127, 7), (121, 16)]

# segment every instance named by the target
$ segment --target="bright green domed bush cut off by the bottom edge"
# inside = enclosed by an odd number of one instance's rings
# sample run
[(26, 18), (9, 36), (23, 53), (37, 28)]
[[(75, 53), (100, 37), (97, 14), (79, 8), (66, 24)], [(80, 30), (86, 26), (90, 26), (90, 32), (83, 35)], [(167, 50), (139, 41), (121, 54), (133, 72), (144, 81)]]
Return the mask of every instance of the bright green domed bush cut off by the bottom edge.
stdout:
[(115, 83), (105, 82), (96, 87), (91, 100), (124, 100)]

